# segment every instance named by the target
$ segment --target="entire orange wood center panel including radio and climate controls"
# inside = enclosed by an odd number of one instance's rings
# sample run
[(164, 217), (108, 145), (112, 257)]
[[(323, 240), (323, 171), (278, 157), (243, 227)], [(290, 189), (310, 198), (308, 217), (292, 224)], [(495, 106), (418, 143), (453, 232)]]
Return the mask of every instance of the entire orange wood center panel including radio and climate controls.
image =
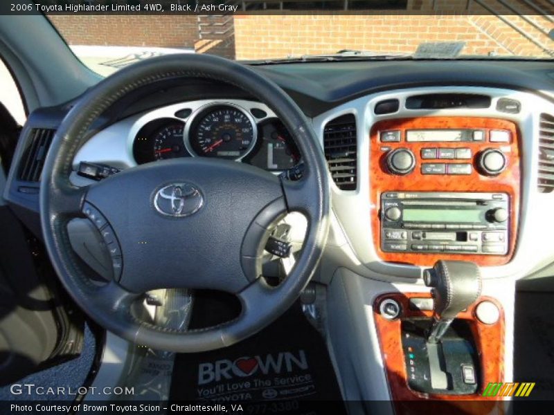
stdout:
[(382, 120), (370, 131), (370, 202), (380, 259), (508, 263), (519, 214), (519, 132), (494, 118)]

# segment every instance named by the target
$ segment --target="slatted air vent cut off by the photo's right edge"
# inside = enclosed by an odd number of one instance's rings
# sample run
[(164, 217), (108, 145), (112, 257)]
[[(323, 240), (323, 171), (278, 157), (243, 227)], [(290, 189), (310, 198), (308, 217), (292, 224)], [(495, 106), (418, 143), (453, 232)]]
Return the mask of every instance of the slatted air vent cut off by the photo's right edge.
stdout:
[(539, 129), (539, 192), (554, 190), (554, 116), (541, 114)]

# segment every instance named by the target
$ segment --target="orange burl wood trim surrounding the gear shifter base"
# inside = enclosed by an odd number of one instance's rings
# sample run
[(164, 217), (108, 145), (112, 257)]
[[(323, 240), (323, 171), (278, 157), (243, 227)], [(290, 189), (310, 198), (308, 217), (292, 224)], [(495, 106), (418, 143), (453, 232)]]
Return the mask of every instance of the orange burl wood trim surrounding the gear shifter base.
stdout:
[[(433, 405), (439, 406), (436, 402), (432, 402), (434, 400), (449, 401), (449, 405), (452, 406), (452, 409), (463, 409), (463, 411), (461, 411), (463, 414), (481, 415), (489, 413), (490, 410), (498, 405), (497, 401), (501, 400), (501, 398), (483, 397), (483, 389), (488, 385), (488, 382), (503, 382), (504, 376), (504, 311), (502, 306), (497, 300), (483, 296), (472, 306), (468, 307), (467, 311), (460, 313), (457, 317), (467, 320), (474, 336), (482, 368), (479, 391), (477, 391), (476, 394), (463, 396), (440, 394), (427, 395), (418, 391), (413, 391), (408, 387), (408, 374), (404, 360), (404, 351), (402, 351), (401, 320), (386, 320), (386, 318), (382, 317), (379, 313), (379, 305), (381, 302), (386, 298), (392, 298), (402, 305), (402, 318), (431, 318), (433, 316), (431, 311), (412, 311), (409, 309), (409, 299), (413, 297), (429, 298), (431, 295), (429, 293), (389, 293), (377, 297), (373, 305), (373, 317), (379, 337), (384, 369), (391, 391), (391, 397), (393, 400), (397, 401), (395, 402), (397, 414), (409, 412), (407, 410), (402, 410), (403, 405), (406, 406), (404, 409), (411, 407), (411, 405), (401, 402), (407, 400), (422, 400), (428, 402), (431, 400), (429, 402), (429, 407), (427, 407), (427, 405), (425, 406), (425, 408), (429, 410), (433, 409)], [(485, 299), (496, 304), (500, 310), (500, 319), (496, 324), (483, 324), (475, 317), (476, 306)], [(472, 403), (469, 401), (479, 402)], [(490, 401), (490, 407), (488, 407), (486, 402), (483, 403), (483, 401)], [(485, 411), (484, 409), (487, 410)]]

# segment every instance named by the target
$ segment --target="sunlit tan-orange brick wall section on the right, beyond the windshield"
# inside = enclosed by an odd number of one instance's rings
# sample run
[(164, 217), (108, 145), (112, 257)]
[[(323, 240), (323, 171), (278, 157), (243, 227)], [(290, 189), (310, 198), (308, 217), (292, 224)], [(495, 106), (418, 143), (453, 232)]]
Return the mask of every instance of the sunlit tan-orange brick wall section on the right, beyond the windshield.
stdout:
[[(554, 42), (544, 34), (536, 37), (554, 49)], [(235, 40), (237, 59), (341, 49), (413, 53), (418, 44), (439, 40), (465, 42), (462, 53), (468, 55), (549, 56), (497, 17), (479, 15), (245, 15), (235, 17)]]

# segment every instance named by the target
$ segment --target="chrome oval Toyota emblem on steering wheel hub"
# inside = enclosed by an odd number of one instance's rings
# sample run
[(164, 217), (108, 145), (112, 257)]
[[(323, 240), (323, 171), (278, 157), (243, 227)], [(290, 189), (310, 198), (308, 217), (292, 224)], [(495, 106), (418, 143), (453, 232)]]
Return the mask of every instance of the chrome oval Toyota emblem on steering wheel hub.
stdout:
[(154, 208), (164, 216), (190, 216), (198, 212), (202, 205), (202, 193), (190, 183), (172, 183), (162, 187), (154, 196)]

